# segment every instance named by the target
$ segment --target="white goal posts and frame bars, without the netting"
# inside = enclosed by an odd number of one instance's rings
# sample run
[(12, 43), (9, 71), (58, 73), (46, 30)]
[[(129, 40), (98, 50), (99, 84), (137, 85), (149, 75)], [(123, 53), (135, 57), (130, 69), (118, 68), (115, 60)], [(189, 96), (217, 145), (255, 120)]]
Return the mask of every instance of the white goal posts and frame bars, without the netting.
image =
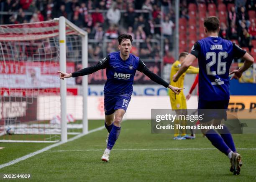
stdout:
[[(67, 54), (66, 54), (66, 27), (69, 27), (76, 32), (82, 40), (82, 67), (88, 67), (88, 35), (87, 32), (74, 25), (72, 22), (61, 16), (51, 20), (59, 22), (59, 70), (67, 72)], [(46, 21), (47, 22), (47, 21)], [(31, 23), (26, 23), (31, 24)], [(25, 25), (25, 24), (24, 24)], [(40, 39), (40, 38), (39, 38)], [(88, 77), (82, 79), (82, 135), (88, 133), (87, 119), (87, 92), (88, 92)], [(67, 80), (60, 80), (60, 100), (61, 100), (61, 140), (67, 142)], [(0, 142), (58, 142), (58, 141), (34, 141), (34, 140), (0, 140)]]

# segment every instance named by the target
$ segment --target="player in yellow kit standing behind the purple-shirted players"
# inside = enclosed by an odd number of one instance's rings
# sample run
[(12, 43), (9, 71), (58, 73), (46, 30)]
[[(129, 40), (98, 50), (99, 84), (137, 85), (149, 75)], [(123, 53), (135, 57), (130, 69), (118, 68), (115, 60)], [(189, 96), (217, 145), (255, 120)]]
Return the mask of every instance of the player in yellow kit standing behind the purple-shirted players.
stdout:
[[(186, 73), (193, 73), (193, 74), (197, 74), (199, 72), (199, 68), (197, 67), (193, 67), (190, 66), (189, 69), (183, 73), (183, 75), (181, 77), (179, 77), (179, 80), (177, 82), (174, 82), (172, 80), (173, 76), (178, 72), (182, 61), (185, 59), (185, 57), (188, 55), (188, 52), (182, 52), (179, 55), (179, 60), (175, 61), (172, 65), (172, 70), (171, 70), (171, 75), (170, 75), (170, 84), (175, 86), (175, 87), (179, 87), (179, 88), (183, 88), (184, 86), (184, 77), (186, 75)], [(186, 103), (186, 97), (183, 93), (183, 90), (181, 90), (181, 92), (179, 93), (179, 95), (175, 95), (172, 92), (169, 92), (169, 97), (170, 97), (170, 101), (171, 101), (171, 105), (172, 105), (172, 110), (175, 110), (176, 114), (178, 115), (186, 115), (187, 113), (187, 103)], [(186, 125), (186, 121), (185, 120), (175, 120), (174, 121), (174, 125)], [(175, 129), (174, 127), (174, 140), (185, 140), (185, 139), (194, 139), (195, 137), (193, 136), (189, 136), (186, 134), (186, 130), (182, 130), (182, 134), (179, 135), (179, 130)]]

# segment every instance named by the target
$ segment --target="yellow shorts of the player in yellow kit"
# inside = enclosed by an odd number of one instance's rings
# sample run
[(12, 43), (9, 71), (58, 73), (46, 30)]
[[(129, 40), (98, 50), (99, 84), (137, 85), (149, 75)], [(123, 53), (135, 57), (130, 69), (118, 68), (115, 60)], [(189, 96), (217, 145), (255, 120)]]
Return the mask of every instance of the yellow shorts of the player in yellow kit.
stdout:
[(179, 95), (170, 93), (169, 97), (172, 110), (187, 109), (186, 97), (184, 96), (183, 92), (179, 93)]

